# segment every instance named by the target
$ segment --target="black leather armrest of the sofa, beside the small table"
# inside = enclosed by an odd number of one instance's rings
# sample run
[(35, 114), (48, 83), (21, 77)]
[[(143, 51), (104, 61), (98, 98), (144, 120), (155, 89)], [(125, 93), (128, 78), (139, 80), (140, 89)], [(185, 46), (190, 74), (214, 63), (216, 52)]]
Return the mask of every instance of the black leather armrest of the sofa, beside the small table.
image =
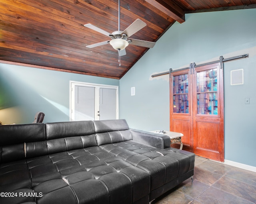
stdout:
[(130, 129), (132, 133), (132, 139), (146, 145), (151, 145), (160, 149), (165, 149), (170, 147), (171, 141), (170, 137), (167, 135), (142, 131), (138, 129)]

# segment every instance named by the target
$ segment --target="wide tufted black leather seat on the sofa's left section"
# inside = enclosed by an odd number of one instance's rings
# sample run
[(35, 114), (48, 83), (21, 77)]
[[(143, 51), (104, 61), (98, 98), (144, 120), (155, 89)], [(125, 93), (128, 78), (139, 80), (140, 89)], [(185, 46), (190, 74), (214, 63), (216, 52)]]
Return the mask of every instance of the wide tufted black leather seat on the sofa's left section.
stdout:
[[(147, 197), (150, 190), (148, 173), (97, 146), (1, 164), (0, 172), (0, 190), (34, 190), (43, 195), (36, 198), (38, 204), (114, 204), (120, 200), (130, 204)], [(33, 200), (18, 197), (4, 201)]]

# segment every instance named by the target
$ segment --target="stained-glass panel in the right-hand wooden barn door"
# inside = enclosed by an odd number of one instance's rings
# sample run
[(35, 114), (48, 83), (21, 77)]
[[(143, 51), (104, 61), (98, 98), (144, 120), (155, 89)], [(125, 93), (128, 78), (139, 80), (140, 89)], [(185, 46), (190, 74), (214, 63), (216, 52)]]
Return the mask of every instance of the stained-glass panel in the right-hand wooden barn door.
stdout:
[(218, 115), (217, 68), (196, 74), (197, 114)]

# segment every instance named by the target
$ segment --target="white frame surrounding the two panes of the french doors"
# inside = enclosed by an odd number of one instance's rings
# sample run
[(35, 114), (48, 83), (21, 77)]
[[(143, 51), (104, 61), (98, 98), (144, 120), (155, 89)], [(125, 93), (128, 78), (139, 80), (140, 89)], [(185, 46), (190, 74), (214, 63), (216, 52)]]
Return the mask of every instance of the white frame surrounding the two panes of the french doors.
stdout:
[[(69, 120), (74, 121), (74, 86), (87, 86), (87, 87), (94, 87), (95, 88), (95, 107), (100, 104), (100, 88), (110, 88), (116, 90), (116, 119), (119, 119), (119, 96), (118, 96), (118, 86), (114, 85), (106, 85), (106, 84), (94, 84), (94, 83), (87, 83), (87, 82), (78, 82), (78, 81), (69, 81)], [(96, 108), (97, 109), (97, 108)], [(100, 120), (98, 116), (97, 110), (94, 111), (95, 120)]]

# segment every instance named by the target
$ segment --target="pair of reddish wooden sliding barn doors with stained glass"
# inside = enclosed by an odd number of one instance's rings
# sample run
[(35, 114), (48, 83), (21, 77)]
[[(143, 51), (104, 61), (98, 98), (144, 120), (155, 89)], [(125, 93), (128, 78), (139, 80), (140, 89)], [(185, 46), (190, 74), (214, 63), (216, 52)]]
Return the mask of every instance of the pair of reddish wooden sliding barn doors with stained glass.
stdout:
[(184, 72), (170, 75), (170, 130), (184, 134), (185, 150), (224, 161), (223, 69), (220, 63), (196, 67), (183, 80)]

